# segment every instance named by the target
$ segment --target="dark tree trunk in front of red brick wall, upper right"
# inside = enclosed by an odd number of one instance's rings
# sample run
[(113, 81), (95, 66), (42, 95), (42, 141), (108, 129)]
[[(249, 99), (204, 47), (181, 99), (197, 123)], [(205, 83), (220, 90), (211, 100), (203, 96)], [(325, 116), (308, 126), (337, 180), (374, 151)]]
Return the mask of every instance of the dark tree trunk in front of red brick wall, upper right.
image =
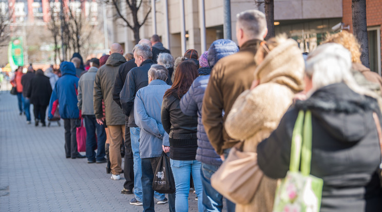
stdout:
[(366, 0), (352, 0), (353, 34), (361, 45), (361, 62), (369, 66), (369, 40), (366, 22)]

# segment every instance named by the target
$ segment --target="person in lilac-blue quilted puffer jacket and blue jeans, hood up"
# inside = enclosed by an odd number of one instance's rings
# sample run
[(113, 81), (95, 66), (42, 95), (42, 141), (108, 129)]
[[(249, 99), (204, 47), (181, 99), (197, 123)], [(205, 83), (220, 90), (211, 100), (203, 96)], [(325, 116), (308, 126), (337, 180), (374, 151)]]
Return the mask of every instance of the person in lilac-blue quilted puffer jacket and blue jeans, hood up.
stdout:
[[(222, 163), (220, 156), (209, 143), (202, 123), (202, 103), (204, 91), (208, 84), (211, 68), (215, 63), (228, 55), (239, 51), (235, 42), (228, 39), (215, 40), (208, 51), (199, 58), (201, 68), (198, 70), (199, 77), (196, 78), (188, 92), (180, 100), (180, 109), (185, 115), (198, 115), (198, 149), (196, 160), (202, 162), (200, 169), (203, 184), (203, 209), (204, 211), (221, 211), (223, 209), (223, 196), (211, 185), (211, 176), (218, 170)], [(209, 59), (208, 59), (209, 58)], [(211, 62), (209, 62), (211, 61)], [(226, 200), (227, 211), (235, 211), (235, 204)]]

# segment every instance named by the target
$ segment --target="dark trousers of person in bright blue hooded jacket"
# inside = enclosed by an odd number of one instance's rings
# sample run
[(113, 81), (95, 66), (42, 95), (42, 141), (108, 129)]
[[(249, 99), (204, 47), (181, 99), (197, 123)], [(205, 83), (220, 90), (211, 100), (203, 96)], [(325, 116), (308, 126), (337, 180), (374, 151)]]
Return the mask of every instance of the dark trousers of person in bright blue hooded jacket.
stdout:
[(64, 129), (65, 129), (65, 153), (66, 157), (78, 157), (80, 153), (77, 148), (77, 138), (76, 135), (76, 125), (75, 120), (77, 118), (64, 119)]

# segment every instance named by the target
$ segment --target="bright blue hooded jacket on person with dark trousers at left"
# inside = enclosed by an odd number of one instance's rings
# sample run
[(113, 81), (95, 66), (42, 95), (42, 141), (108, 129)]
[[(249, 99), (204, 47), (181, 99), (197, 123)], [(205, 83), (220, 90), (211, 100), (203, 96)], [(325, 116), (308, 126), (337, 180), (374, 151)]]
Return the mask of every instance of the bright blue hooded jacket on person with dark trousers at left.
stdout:
[(75, 76), (75, 67), (72, 62), (63, 61), (60, 65), (62, 77), (55, 83), (50, 96), (48, 117), (52, 118), (59, 106), (60, 117), (73, 119), (80, 117), (77, 107), (77, 88), (79, 78)]

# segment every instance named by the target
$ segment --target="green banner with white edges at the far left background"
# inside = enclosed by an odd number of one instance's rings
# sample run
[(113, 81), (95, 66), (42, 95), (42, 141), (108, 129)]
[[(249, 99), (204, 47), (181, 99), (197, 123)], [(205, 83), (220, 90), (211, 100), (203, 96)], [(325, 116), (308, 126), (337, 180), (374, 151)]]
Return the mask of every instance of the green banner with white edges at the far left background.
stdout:
[(23, 38), (14, 37), (9, 42), (8, 62), (11, 67), (24, 66)]

